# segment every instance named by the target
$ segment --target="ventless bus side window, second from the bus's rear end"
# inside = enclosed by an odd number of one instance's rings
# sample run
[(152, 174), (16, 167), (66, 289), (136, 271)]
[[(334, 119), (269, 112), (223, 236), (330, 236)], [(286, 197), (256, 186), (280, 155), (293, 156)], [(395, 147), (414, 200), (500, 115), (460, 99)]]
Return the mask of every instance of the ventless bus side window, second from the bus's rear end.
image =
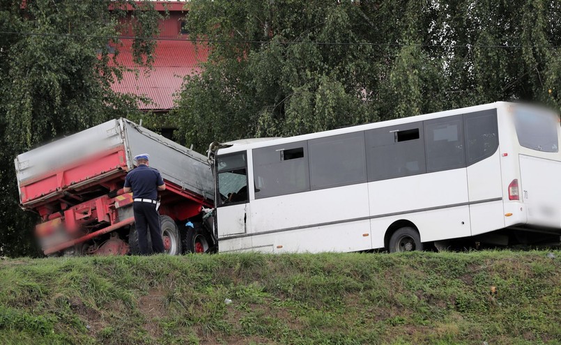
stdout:
[(426, 172), (466, 167), (461, 115), (424, 121), (424, 135)]

